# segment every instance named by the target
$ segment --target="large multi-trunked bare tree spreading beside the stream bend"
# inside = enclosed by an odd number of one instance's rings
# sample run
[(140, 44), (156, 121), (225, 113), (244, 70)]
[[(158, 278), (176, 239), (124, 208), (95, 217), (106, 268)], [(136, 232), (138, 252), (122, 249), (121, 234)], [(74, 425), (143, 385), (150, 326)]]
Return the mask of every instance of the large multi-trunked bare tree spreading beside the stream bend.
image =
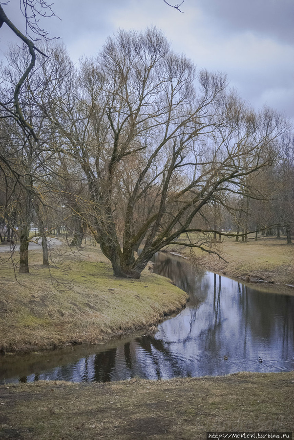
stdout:
[[(118, 32), (78, 73), (63, 49), (54, 53), (43, 65), (42, 109), (58, 129), (63, 154), (80, 164), (87, 226), (116, 276), (139, 278), (152, 255), (183, 232), (213, 234), (213, 227), (191, 228), (195, 216), (230, 193), (244, 194), (245, 176), (273, 161), (282, 118), (247, 109), (226, 92), (221, 74), (196, 77), (193, 64), (171, 52), (155, 28)], [(207, 250), (199, 242), (189, 246)]]

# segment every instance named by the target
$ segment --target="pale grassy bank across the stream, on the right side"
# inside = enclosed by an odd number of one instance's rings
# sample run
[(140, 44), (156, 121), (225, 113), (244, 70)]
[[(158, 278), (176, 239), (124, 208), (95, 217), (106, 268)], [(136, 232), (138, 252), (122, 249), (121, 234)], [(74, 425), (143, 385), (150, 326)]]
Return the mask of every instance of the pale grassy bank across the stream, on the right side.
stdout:
[(289, 287), (289, 293), (294, 294), (294, 245), (287, 244), (285, 239), (259, 236), (254, 241), (252, 234), (247, 243), (242, 243), (225, 238), (215, 243), (215, 250), (224, 259), (197, 248), (191, 254), (190, 248), (179, 245), (167, 246), (165, 250), (183, 255), (211, 272), (246, 282)]

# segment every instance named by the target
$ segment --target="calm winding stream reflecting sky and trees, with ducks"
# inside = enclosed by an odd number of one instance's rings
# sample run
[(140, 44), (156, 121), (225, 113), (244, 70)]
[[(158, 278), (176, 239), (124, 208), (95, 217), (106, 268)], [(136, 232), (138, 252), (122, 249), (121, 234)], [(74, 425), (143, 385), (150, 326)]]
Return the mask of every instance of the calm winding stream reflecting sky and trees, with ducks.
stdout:
[(154, 337), (137, 335), (101, 346), (2, 356), (0, 384), (294, 370), (294, 296), (270, 288), (256, 290), (177, 256), (157, 255), (155, 271), (186, 290), (190, 301), (160, 324)]

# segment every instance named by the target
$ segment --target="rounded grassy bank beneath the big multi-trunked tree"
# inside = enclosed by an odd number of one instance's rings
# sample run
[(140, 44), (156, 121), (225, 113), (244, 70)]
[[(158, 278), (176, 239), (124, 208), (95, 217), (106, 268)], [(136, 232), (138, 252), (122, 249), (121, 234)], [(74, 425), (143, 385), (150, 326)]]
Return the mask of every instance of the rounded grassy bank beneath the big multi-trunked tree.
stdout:
[(58, 268), (51, 267), (50, 276), (42, 253), (31, 251), (30, 274), (17, 279), (11, 262), (2, 261), (2, 351), (105, 341), (155, 325), (187, 301), (185, 292), (147, 269), (140, 280), (114, 278), (99, 247), (76, 255), (63, 249), (56, 260)]

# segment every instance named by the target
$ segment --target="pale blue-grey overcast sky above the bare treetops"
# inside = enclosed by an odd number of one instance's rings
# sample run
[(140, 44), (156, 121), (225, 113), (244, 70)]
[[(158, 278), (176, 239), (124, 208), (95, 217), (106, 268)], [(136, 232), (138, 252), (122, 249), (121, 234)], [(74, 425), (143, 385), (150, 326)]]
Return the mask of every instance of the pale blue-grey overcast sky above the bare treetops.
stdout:
[[(3, 8), (24, 31), (19, 0)], [(294, 119), (294, 0), (185, 0), (183, 13), (163, 0), (55, 0), (53, 10), (62, 21), (50, 18), (42, 25), (61, 37), (76, 62), (95, 55), (119, 28), (153, 24), (199, 69), (226, 72), (256, 109), (269, 104)], [(11, 35), (3, 25), (2, 52)]]

